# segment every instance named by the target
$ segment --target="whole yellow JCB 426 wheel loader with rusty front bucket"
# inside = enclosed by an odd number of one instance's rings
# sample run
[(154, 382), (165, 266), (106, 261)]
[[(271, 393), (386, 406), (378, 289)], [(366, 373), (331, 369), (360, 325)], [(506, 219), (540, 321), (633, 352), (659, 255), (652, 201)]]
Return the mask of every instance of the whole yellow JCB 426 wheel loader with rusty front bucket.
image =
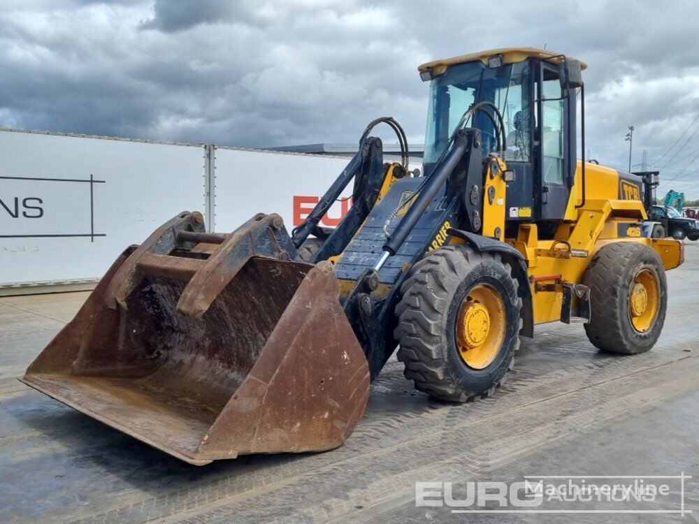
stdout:
[[(276, 214), (230, 234), (178, 214), (24, 382), (201, 465), (339, 446), (396, 347), (415, 387), (455, 402), (491, 395), (536, 323), (582, 317), (599, 349), (651, 349), (682, 243), (653, 238), (637, 178), (577, 159), (584, 67), (533, 48), (420, 66), (424, 174), (383, 118), (291, 235)], [(380, 122), (402, 163), (383, 163)], [(352, 208), (319, 226), (352, 181)]]

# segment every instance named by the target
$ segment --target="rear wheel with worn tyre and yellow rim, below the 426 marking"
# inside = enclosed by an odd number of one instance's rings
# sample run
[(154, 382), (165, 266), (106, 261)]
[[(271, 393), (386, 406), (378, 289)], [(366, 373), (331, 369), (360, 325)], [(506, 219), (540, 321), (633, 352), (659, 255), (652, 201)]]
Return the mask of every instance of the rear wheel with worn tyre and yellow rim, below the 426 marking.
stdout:
[(585, 331), (595, 347), (630, 355), (654, 346), (668, 307), (665, 268), (654, 249), (639, 242), (606, 245), (593, 257), (584, 284), (591, 305)]

